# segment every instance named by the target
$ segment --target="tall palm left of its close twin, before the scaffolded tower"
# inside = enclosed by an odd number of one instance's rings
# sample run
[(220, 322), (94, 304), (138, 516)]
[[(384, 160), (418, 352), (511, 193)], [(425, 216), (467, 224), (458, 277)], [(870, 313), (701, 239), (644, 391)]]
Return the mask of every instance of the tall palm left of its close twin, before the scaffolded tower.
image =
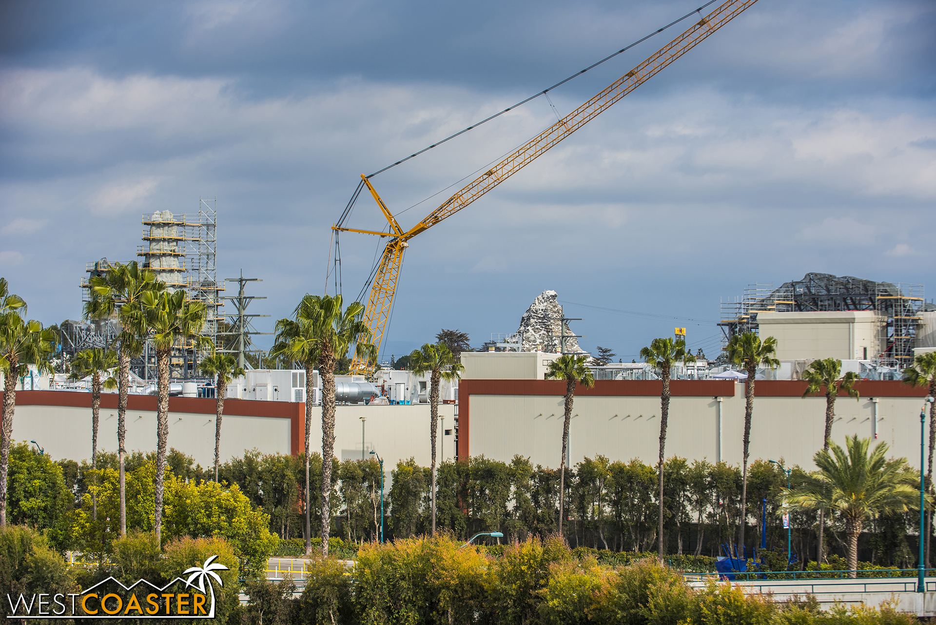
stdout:
[(114, 263), (101, 276), (92, 276), (91, 299), (84, 305), (85, 318), (110, 319), (117, 316), (122, 330), (117, 336), (117, 457), (120, 461), (120, 533), (126, 535), (126, 401), (130, 386), (130, 360), (143, 353), (146, 334), (139, 297), (146, 291), (162, 291), (166, 284), (156, 280), (150, 269), (140, 269), (137, 261)]

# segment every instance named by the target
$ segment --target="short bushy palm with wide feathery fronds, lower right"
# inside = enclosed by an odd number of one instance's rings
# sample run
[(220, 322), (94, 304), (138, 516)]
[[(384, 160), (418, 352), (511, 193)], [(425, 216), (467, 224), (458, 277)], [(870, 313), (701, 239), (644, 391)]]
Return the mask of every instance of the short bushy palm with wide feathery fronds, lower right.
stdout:
[(795, 488), (784, 491), (793, 510), (829, 509), (839, 513), (848, 535), (848, 568), (856, 576), (858, 536), (866, 519), (888, 513), (918, 510), (916, 475), (907, 458), (885, 458), (887, 443), (868, 452), (870, 439), (857, 434), (845, 439), (845, 449), (829, 443), (829, 449), (813, 457), (819, 471), (804, 476)]

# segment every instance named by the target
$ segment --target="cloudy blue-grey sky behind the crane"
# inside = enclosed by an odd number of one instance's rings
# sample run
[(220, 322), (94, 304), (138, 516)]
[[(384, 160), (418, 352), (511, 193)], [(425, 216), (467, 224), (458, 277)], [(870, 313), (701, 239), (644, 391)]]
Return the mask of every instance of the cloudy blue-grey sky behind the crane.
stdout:
[[(85, 263), (132, 259), (141, 213), (216, 196), (218, 277), (263, 279), (253, 312), (273, 315), (258, 324), (270, 329), (325, 289), (329, 226), (359, 174), (698, 3), (5, 2), (0, 275), (31, 317), (76, 318)], [(555, 111), (685, 27), (552, 92)], [(714, 352), (720, 298), (808, 271), (928, 283), (932, 298), (934, 59), (932, 2), (761, 0), (413, 240), (385, 353), (440, 327), (479, 345), (516, 330), (545, 289), (584, 318), (573, 324), (584, 347), (627, 359), (674, 326)], [(399, 213), (555, 121), (536, 98), (373, 184)], [(383, 223), (362, 196), (348, 225)], [(343, 237), (345, 297), (376, 244)]]

